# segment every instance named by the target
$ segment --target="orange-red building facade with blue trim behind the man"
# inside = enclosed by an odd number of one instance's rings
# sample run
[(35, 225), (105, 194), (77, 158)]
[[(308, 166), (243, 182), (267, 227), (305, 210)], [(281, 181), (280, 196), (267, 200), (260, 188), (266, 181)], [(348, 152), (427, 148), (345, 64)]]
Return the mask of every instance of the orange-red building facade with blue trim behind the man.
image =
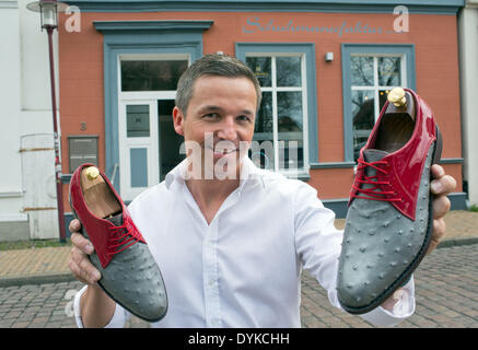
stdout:
[[(218, 51), (246, 62), (261, 84), (249, 156), (307, 182), (338, 217), (347, 212), (358, 152), (397, 85), (416, 90), (434, 110), (444, 138), (442, 165), (458, 183), (453, 209), (466, 208), (457, 32), (463, 0), (406, 0), (401, 7), (388, 0), (68, 3), (57, 60), (67, 225), (68, 186), (79, 164), (97, 164), (130, 201), (184, 159), (171, 116), (177, 79)], [(42, 95), (47, 75), (42, 80), (39, 95), (22, 81), (25, 101), (49, 103)], [(38, 130), (51, 124), (46, 115), (37, 120)]]

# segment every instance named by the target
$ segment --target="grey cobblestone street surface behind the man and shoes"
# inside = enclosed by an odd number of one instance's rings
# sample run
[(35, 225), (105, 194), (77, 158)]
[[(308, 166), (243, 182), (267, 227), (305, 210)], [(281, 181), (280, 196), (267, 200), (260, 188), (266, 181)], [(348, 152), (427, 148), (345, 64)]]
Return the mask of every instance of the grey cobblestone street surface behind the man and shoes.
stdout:
[[(435, 249), (415, 272), (417, 308), (401, 323), (410, 327), (478, 328), (478, 244)], [(80, 282), (0, 288), (0, 328), (75, 327), (72, 301)], [(308, 275), (302, 279), (303, 327), (373, 327), (359, 316), (330, 306), (324, 290)], [(148, 327), (133, 317), (128, 328)]]

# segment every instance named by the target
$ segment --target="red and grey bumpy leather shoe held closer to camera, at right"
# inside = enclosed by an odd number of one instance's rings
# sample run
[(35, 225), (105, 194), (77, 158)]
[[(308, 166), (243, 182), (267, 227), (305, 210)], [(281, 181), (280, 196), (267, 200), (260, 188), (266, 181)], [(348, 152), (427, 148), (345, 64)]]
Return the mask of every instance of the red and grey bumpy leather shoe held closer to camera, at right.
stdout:
[(337, 276), (338, 300), (348, 313), (380, 306), (427, 254), (430, 167), (441, 149), (430, 107), (413, 91), (394, 89), (360, 152), (350, 192)]

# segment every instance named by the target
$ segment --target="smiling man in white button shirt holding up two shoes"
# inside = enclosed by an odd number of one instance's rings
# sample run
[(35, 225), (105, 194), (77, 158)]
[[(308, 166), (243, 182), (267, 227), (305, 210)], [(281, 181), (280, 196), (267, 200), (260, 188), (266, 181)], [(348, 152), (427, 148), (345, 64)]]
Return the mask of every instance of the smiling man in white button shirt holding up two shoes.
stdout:
[[(129, 206), (168, 295), (168, 312), (153, 327), (300, 327), (302, 268), (340, 307), (335, 287), (342, 232), (334, 213), (307, 184), (259, 170), (245, 156), (259, 105), (254, 73), (228, 56), (197, 60), (178, 82), (174, 128), (198, 147), (187, 147), (187, 160)], [(212, 171), (198, 171), (208, 160)], [(455, 187), (441, 166), (432, 172), (431, 249), (444, 234), (445, 195)], [(86, 284), (75, 296), (78, 325), (121, 327), (127, 312), (96, 284), (100, 273), (88, 259), (93, 247), (79, 229), (73, 220), (70, 269)], [(395, 294), (400, 299), (362, 317), (399, 323), (415, 311), (413, 290), (411, 278)]]

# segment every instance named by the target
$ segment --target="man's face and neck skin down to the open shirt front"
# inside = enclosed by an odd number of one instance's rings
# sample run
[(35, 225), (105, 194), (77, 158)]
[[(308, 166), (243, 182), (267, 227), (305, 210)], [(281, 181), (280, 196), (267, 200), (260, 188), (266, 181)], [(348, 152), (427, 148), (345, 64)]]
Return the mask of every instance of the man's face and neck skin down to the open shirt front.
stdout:
[[(213, 71), (214, 67), (209, 69)], [(191, 176), (186, 186), (209, 224), (225, 198), (238, 187), (244, 143), (248, 145), (253, 140), (260, 88), (252, 77), (218, 77), (205, 71), (207, 68), (198, 78), (194, 77), (195, 70), (182, 77), (178, 105), (183, 81), (196, 80), (194, 94), (187, 105), (173, 109), (173, 118), (176, 132), (189, 144), (199, 145), (190, 149), (188, 158), (193, 163), (188, 171), (195, 162), (203, 166), (200, 176)], [(225, 178), (224, 173), (230, 176)]]

